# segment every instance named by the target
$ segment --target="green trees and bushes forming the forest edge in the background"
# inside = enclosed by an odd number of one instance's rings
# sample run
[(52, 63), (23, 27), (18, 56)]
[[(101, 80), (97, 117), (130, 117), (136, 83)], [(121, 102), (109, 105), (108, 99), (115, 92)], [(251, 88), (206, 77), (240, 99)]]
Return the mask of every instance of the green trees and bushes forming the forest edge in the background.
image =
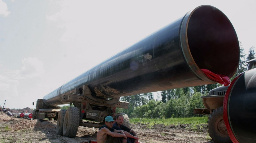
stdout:
[[(247, 63), (255, 58), (254, 46), (250, 47), (248, 56), (240, 44), (240, 61), (237, 73), (230, 79), (231, 81), (238, 73), (246, 70)], [(118, 108), (117, 112), (126, 113), (129, 117), (143, 118), (171, 118), (171, 117), (192, 117), (193, 109), (204, 108), (201, 96), (208, 95), (211, 89), (220, 84), (200, 85), (180, 89), (170, 89), (160, 91), (159, 97), (155, 100), (153, 93), (143, 93), (121, 97), (122, 101), (128, 101), (128, 109)]]

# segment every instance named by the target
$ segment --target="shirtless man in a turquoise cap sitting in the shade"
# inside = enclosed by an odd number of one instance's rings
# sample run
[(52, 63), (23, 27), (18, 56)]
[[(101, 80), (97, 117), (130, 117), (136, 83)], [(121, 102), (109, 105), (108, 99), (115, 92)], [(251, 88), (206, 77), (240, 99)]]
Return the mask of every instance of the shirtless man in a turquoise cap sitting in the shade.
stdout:
[[(105, 125), (99, 128), (97, 133), (97, 143), (122, 143), (127, 137), (123, 131), (112, 128), (114, 120), (111, 116), (105, 118)], [(123, 137), (123, 138), (122, 138)]]

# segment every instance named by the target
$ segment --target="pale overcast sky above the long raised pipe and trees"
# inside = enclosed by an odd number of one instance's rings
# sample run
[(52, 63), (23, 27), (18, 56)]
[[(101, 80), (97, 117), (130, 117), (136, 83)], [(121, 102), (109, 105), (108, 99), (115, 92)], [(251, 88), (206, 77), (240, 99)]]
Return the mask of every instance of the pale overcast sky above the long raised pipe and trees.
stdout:
[(245, 53), (256, 46), (256, 1), (0, 0), (0, 102), (43, 98), (200, 5), (221, 10)]

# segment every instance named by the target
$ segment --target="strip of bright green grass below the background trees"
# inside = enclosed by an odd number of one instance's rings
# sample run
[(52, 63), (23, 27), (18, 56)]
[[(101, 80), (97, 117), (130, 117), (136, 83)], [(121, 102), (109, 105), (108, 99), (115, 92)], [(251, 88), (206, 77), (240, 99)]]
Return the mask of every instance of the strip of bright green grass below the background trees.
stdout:
[(178, 125), (178, 124), (207, 124), (208, 117), (188, 117), (188, 118), (168, 118), (168, 119), (148, 119), (148, 118), (131, 118), (130, 123), (143, 123), (148, 125), (164, 124), (164, 125)]

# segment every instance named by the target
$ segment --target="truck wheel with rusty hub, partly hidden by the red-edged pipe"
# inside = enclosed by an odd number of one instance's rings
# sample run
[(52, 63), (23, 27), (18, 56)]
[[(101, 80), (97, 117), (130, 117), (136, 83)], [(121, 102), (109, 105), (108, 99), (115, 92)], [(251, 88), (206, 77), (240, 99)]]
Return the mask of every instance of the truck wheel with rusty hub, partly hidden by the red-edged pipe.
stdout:
[(232, 143), (223, 120), (223, 107), (213, 110), (208, 118), (208, 133), (215, 143)]

